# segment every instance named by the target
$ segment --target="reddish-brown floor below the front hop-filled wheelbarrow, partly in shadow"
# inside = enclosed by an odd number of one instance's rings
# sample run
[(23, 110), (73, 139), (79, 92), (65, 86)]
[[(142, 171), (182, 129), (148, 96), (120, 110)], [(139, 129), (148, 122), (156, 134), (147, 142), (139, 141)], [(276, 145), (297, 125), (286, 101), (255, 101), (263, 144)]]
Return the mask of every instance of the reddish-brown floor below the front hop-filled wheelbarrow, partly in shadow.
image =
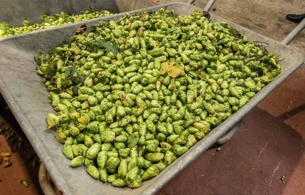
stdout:
[[(9, 111), (0, 110), (0, 117), (22, 137)], [(19, 149), (18, 141), (8, 146), (5, 136), (0, 153), (12, 152), (13, 165), (0, 166), (0, 194), (43, 194), (39, 168), (22, 164), (33, 148)], [(246, 116), (221, 151), (210, 148), (157, 194), (305, 194), (304, 137), (305, 71), (298, 69)]]

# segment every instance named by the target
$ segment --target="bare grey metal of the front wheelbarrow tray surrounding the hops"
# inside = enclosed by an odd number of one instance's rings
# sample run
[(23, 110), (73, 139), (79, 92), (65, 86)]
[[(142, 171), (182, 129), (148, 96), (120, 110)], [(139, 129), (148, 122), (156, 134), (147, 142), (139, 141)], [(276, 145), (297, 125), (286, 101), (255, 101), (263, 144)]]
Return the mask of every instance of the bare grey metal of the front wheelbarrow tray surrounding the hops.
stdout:
[[(163, 6), (147, 8), (144, 11), (158, 11), (167, 6), (181, 15), (191, 14), (194, 10), (203, 10), (184, 3), (172, 3)], [(129, 12), (141, 12), (137, 10)], [(226, 21), (226, 19), (211, 15), (211, 21)], [(106, 16), (104, 20), (118, 20), (124, 13)], [(54, 112), (49, 104), (48, 91), (37, 75), (33, 56), (38, 52), (50, 50), (54, 45), (68, 40), (75, 34), (74, 30), (81, 24), (98, 24), (99, 19), (42, 29), (26, 34), (7, 37), (0, 40), (0, 92), (4, 96), (11, 111), (22, 127), (25, 135), (37, 151), (47, 171), (57, 188), (64, 194), (154, 194), (172, 180), (180, 171), (185, 169), (193, 160), (199, 157), (211, 145), (225, 135), (238, 121), (249, 113), (272, 90), (279, 86), (289, 75), (301, 66), (304, 59), (294, 49), (267, 37), (257, 34), (247, 28), (228, 21), (228, 24), (242, 32), (248, 40), (269, 43), (269, 52), (281, 55), (283, 59), (282, 73), (270, 84), (258, 92), (249, 103), (239, 109), (231, 117), (195, 144), (188, 152), (178, 157), (170, 166), (157, 177), (144, 181), (136, 189), (116, 188), (109, 183), (104, 184), (90, 177), (84, 167), (69, 168), (70, 160), (62, 154), (62, 144), (57, 143), (55, 132), (46, 131), (46, 116)], [(287, 44), (287, 43), (286, 43)]]

